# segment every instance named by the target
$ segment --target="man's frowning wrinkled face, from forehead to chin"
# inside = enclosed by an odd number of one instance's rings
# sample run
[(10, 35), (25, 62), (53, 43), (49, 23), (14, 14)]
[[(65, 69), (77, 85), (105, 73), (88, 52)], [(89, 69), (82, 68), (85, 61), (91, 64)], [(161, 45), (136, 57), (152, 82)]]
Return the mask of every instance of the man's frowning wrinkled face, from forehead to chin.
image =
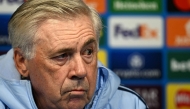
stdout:
[(36, 104), (46, 109), (84, 108), (92, 99), (97, 77), (92, 21), (86, 16), (49, 19), (36, 36), (35, 56), (27, 62)]

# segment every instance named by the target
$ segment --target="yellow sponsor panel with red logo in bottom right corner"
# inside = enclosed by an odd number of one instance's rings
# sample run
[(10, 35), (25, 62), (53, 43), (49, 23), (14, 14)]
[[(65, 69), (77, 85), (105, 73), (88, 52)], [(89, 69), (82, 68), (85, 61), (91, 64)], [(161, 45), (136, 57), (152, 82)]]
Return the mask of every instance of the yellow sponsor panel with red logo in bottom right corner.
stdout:
[(167, 109), (190, 109), (190, 84), (167, 85)]

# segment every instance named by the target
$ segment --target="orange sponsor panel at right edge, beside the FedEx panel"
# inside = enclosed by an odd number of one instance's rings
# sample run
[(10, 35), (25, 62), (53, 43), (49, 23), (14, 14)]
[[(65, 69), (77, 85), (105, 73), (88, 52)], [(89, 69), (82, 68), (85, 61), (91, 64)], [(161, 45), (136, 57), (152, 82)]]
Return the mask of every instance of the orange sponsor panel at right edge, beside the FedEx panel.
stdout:
[(169, 47), (190, 47), (190, 18), (167, 19), (167, 44)]

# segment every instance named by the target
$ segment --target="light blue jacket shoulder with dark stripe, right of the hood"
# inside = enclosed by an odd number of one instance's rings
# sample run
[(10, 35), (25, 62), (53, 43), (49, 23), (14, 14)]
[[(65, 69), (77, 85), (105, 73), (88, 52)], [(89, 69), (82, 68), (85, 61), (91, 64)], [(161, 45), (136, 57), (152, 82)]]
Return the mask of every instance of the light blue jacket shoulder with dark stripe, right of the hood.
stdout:
[(106, 109), (149, 109), (143, 98), (133, 90), (119, 86)]

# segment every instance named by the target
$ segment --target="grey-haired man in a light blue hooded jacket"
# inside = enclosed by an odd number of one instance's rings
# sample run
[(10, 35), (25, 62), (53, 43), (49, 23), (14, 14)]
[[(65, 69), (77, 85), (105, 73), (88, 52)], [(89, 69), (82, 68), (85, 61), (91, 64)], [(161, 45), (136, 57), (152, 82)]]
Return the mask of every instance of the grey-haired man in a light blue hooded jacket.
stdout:
[(29, 0), (9, 22), (1, 109), (146, 109), (97, 61), (101, 20), (81, 0)]

